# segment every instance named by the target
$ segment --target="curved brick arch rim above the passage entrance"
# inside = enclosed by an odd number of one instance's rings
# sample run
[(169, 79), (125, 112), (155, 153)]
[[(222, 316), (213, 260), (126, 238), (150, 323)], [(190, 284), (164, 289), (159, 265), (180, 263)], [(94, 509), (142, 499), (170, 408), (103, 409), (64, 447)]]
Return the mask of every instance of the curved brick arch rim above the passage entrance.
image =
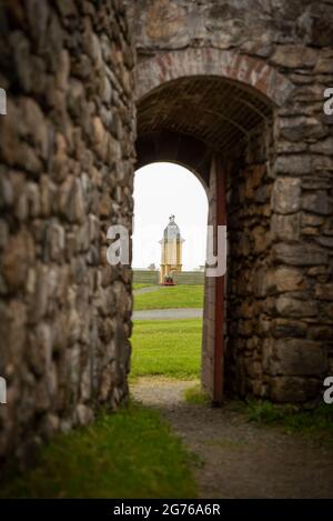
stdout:
[(168, 81), (199, 76), (236, 81), (278, 107), (284, 104), (294, 89), (287, 78), (264, 60), (213, 48), (185, 49), (159, 53), (138, 63), (135, 99), (142, 100)]

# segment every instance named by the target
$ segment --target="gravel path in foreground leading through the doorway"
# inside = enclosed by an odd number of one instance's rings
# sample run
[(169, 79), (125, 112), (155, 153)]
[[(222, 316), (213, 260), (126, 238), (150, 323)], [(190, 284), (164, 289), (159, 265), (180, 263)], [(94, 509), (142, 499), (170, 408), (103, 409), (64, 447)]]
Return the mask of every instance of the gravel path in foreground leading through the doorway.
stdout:
[(159, 408), (202, 465), (201, 498), (333, 498), (333, 449), (249, 423), (230, 407), (184, 402), (193, 381), (142, 379), (132, 394)]

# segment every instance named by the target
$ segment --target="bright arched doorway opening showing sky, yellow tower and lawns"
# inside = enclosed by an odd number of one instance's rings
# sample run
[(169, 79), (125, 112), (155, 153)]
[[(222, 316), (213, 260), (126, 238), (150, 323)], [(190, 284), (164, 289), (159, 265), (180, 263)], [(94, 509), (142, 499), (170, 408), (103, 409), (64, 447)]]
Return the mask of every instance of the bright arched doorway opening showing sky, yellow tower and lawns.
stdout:
[(193, 172), (171, 162), (135, 172), (134, 380), (176, 379), (193, 385), (200, 379), (206, 220), (205, 189)]

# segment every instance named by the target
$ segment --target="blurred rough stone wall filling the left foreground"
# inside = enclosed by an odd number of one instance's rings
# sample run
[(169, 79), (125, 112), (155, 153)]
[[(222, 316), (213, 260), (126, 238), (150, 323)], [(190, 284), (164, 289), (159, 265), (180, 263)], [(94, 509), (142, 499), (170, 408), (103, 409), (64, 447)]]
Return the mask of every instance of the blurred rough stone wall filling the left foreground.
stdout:
[(0, 459), (127, 397), (130, 267), (107, 263), (132, 226), (133, 52), (118, 0), (2, 2)]

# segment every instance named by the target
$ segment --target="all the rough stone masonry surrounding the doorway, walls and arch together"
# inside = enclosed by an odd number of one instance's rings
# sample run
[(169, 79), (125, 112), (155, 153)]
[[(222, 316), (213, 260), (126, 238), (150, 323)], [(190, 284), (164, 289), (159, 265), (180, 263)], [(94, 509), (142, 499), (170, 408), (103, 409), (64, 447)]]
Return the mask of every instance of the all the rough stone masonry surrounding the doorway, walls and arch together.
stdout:
[[(188, 166), (210, 223), (213, 156), (225, 172), (226, 392), (319, 400), (333, 373), (333, 1), (0, 6), (0, 458), (128, 394), (131, 271), (107, 263), (105, 234), (131, 230), (135, 127), (137, 166)], [(218, 312), (209, 280), (209, 392)]]

